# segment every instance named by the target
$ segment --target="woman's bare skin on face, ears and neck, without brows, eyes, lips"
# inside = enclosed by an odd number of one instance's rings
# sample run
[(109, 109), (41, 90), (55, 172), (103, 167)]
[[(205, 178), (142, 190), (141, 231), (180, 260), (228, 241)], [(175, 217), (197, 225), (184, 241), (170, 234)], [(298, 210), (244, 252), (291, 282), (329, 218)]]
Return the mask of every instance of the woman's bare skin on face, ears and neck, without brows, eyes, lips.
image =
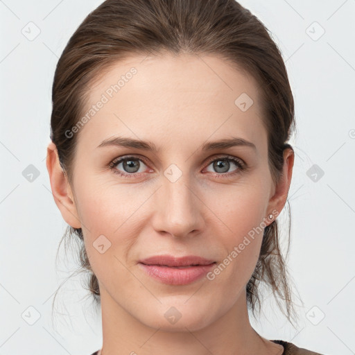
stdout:
[[(72, 184), (60, 168), (55, 145), (47, 149), (53, 198), (64, 220), (83, 229), (98, 277), (102, 354), (282, 354), (282, 345), (257, 334), (248, 318), (245, 286), (262, 233), (212, 281), (162, 284), (138, 265), (139, 259), (157, 254), (193, 254), (220, 264), (253, 227), (272, 211), (282, 211), (294, 155), (284, 151), (284, 175), (273, 184), (259, 85), (216, 56), (137, 55), (116, 63), (96, 82), (87, 107), (131, 67), (137, 74), (76, 133)], [(245, 112), (234, 104), (243, 92), (254, 101)], [(117, 135), (151, 141), (160, 150), (97, 148)], [(205, 141), (230, 137), (251, 141), (256, 150), (201, 150)], [(125, 155), (148, 159), (135, 160), (140, 167), (134, 178), (114, 173), (132, 175), (123, 163), (108, 166)], [(227, 173), (234, 175), (226, 178), (213, 160), (207, 162), (225, 155), (243, 159), (248, 171), (229, 161)], [(171, 164), (182, 172), (175, 182), (164, 175)], [(93, 246), (101, 235), (111, 243), (102, 254)], [(175, 324), (164, 317), (172, 306), (182, 315)]]

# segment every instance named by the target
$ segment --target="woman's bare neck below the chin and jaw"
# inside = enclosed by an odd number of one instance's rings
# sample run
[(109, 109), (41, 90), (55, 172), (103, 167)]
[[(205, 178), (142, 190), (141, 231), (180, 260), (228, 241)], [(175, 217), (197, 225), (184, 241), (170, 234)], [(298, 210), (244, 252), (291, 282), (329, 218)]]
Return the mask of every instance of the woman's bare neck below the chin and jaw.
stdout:
[(150, 327), (134, 318), (103, 289), (101, 355), (282, 354), (282, 345), (262, 338), (251, 327), (245, 296), (244, 288), (232, 309), (207, 327), (199, 328), (198, 320), (196, 324), (184, 323), (181, 318), (175, 323), (177, 327), (164, 329), (160, 324)]

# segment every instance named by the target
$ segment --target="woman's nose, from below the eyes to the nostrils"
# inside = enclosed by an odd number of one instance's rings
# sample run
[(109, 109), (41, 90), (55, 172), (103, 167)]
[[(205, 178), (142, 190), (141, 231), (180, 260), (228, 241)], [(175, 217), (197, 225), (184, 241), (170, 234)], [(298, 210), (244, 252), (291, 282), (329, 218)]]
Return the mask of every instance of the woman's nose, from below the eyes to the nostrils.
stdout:
[(198, 196), (196, 185), (189, 177), (182, 175), (171, 182), (163, 176), (162, 187), (155, 193), (155, 214), (153, 227), (158, 233), (171, 234), (178, 238), (192, 236), (202, 231), (203, 202)]

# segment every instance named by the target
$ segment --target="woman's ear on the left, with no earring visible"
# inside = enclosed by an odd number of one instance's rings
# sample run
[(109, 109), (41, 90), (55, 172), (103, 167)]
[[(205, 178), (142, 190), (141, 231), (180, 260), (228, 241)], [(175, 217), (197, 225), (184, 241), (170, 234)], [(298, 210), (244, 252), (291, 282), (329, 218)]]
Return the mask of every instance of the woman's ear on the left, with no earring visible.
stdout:
[(53, 198), (62, 217), (71, 227), (81, 228), (73, 193), (67, 175), (64, 174), (62, 166), (60, 166), (58, 150), (53, 141), (47, 147), (46, 166), (51, 181)]

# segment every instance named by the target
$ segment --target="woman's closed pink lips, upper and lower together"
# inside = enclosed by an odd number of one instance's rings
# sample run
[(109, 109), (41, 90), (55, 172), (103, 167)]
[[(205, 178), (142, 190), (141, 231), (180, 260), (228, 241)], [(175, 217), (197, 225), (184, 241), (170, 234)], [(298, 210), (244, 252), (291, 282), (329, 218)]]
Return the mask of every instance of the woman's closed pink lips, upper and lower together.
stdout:
[(186, 285), (204, 277), (216, 261), (202, 257), (171, 257), (161, 255), (139, 261), (139, 266), (159, 282), (170, 285)]

